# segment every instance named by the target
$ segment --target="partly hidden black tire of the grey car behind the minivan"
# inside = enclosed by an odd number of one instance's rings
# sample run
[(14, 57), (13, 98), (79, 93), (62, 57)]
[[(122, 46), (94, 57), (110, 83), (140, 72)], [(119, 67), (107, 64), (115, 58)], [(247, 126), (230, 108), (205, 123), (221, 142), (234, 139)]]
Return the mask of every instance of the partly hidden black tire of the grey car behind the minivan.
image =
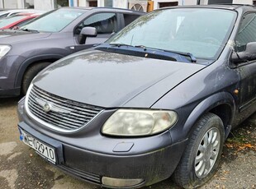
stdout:
[(26, 69), (21, 83), (21, 95), (26, 95), (26, 91), (29, 85), (31, 85), (33, 78), (39, 73), (39, 71), (48, 67), (50, 63), (51, 62), (36, 62)]

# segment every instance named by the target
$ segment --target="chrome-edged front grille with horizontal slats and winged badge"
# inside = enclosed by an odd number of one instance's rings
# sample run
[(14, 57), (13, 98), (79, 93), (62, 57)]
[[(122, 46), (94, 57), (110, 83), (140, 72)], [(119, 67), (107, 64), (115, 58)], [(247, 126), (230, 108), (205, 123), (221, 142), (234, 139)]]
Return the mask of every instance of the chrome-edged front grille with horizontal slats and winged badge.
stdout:
[(102, 111), (100, 107), (52, 95), (35, 85), (29, 92), (27, 107), (33, 116), (46, 123), (45, 126), (59, 131), (77, 130)]

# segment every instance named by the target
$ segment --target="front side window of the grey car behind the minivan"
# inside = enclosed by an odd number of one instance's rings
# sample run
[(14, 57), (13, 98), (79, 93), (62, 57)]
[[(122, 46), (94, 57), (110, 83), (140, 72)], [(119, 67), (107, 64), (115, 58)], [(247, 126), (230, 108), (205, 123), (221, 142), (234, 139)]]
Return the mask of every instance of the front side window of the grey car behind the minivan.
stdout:
[(97, 34), (111, 34), (116, 32), (116, 14), (115, 13), (98, 13), (85, 19), (74, 30), (74, 34), (80, 34), (83, 27), (95, 27)]

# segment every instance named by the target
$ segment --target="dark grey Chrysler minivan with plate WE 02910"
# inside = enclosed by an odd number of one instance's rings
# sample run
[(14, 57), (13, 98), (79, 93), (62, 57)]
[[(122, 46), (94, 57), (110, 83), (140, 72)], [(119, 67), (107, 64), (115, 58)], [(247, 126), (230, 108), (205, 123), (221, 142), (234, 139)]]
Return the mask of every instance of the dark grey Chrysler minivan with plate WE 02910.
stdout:
[[(92, 28), (92, 32), (93, 32)], [(55, 62), (18, 105), (21, 141), (103, 187), (216, 173), (230, 129), (256, 110), (256, 8), (150, 12)]]

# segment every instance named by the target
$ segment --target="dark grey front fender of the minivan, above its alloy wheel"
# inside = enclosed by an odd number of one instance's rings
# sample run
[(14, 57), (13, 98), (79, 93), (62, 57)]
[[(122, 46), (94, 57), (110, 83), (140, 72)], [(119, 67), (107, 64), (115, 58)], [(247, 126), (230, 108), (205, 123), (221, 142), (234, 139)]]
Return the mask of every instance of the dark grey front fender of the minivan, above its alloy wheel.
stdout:
[(220, 104), (230, 108), (230, 122), (227, 124), (231, 124), (238, 102), (234, 91), (239, 87), (239, 75), (226, 65), (221, 61), (211, 64), (169, 91), (151, 107), (172, 109), (178, 113), (178, 122), (171, 129), (173, 142), (187, 138), (197, 119)]

